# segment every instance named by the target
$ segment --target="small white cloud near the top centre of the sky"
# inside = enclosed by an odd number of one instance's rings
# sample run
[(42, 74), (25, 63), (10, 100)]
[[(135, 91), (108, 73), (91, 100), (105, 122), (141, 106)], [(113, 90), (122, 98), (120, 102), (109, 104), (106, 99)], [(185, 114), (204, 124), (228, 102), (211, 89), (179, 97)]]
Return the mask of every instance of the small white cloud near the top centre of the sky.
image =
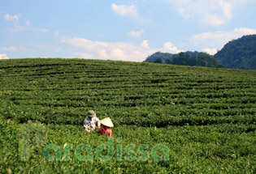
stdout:
[(142, 17), (137, 12), (137, 6), (134, 4), (131, 6), (125, 6), (112, 3), (111, 8), (113, 11), (115, 11), (116, 14), (132, 19), (137, 23), (147, 23), (149, 21), (149, 19)]

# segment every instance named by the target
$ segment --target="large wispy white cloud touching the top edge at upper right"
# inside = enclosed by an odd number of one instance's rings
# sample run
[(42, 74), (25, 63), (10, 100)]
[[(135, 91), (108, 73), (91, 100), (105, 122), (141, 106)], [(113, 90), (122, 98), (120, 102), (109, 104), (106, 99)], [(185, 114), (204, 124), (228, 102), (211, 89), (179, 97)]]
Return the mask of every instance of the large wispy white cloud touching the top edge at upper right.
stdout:
[(232, 18), (232, 11), (249, 0), (164, 0), (171, 2), (184, 18), (196, 18), (200, 23), (219, 26)]

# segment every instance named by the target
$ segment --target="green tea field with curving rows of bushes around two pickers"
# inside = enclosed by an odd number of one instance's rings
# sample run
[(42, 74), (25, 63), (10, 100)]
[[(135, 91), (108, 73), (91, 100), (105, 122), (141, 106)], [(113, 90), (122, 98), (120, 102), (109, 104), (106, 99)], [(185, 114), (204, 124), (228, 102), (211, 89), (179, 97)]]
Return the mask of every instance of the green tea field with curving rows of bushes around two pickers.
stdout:
[[(90, 109), (111, 117), (112, 139), (85, 133)], [(0, 61), (0, 173), (255, 173), (255, 144), (255, 70)]]

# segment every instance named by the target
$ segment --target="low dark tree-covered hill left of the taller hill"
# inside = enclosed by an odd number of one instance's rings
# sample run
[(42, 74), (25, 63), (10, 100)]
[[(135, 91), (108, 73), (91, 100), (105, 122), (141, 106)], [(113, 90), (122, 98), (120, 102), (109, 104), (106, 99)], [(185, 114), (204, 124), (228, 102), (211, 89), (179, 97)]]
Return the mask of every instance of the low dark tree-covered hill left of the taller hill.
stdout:
[(203, 52), (191, 52), (187, 51), (184, 53), (161, 53), (157, 52), (145, 59), (144, 62), (154, 62), (163, 64), (172, 64), (180, 66), (206, 66), (206, 67), (223, 67), (215, 59), (215, 57), (210, 56)]

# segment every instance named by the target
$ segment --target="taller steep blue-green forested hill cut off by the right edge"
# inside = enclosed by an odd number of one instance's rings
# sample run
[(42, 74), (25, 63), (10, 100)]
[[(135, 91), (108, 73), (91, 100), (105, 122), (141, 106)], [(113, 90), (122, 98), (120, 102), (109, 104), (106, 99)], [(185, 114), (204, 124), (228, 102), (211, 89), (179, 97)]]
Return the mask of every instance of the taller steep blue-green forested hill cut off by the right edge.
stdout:
[(214, 57), (227, 68), (256, 70), (256, 35), (229, 41)]

